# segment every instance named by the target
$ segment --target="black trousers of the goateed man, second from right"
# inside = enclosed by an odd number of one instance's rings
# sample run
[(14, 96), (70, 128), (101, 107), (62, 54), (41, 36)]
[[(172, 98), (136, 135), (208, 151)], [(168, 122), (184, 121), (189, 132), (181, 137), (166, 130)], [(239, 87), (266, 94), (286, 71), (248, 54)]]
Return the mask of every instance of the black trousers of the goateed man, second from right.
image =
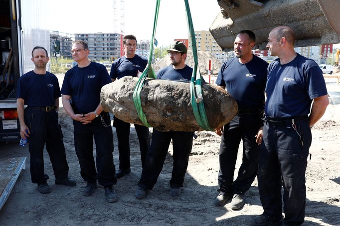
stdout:
[[(224, 125), (219, 149), (218, 186), (220, 192), (228, 195), (243, 194), (253, 183), (259, 159), (259, 145), (256, 137), (262, 126), (259, 114), (236, 115), (228, 124)], [(238, 176), (234, 181), (234, 171), (238, 146), (242, 139), (243, 156)]]

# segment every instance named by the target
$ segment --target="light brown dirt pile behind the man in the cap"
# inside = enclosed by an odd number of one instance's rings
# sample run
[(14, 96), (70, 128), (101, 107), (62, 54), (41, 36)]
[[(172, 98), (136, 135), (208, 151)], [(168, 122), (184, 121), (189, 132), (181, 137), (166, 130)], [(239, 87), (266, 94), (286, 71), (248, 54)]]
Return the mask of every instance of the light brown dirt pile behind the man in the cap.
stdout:
[[(218, 71), (220, 70), (222, 63), (218, 59), (216, 59), (211, 53), (198, 51), (197, 56), (198, 56), (198, 67), (199, 67), (199, 71), (201, 72), (201, 74), (208, 74), (209, 60), (211, 60), (211, 74), (218, 74)], [(161, 68), (164, 68), (170, 65), (170, 63), (171, 63), (170, 57), (165, 56), (161, 60), (153, 64), (153, 68), (155, 71), (159, 71)], [(194, 65), (191, 50), (187, 52), (185, 63), (190, 67), (193, 67)]]

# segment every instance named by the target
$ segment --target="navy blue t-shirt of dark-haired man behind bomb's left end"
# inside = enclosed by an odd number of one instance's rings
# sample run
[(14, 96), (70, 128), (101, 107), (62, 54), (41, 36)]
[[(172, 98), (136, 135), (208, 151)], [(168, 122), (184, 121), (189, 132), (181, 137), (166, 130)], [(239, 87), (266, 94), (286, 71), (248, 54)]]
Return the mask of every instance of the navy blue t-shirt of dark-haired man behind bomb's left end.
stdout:
[(140, 57), (137, 54), (133, 58), (121, 58), (115, 60), (111, 66), (110, 78), (120, 79), (124, 76), (136, 77), (138, 71), (141, 73), (148, 65), (148, 60), (144, 57)]

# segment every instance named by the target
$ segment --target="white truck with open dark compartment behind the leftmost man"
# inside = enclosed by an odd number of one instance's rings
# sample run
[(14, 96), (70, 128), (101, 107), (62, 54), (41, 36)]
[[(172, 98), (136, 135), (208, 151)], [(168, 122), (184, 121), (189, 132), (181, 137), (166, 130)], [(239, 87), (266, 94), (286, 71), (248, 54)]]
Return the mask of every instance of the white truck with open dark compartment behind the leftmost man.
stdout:
[(20, 139), (17, 81), (34, 69), (34, 46), (50, 52), (47, 6), (44, 0), (0, 0), (0, 142)]

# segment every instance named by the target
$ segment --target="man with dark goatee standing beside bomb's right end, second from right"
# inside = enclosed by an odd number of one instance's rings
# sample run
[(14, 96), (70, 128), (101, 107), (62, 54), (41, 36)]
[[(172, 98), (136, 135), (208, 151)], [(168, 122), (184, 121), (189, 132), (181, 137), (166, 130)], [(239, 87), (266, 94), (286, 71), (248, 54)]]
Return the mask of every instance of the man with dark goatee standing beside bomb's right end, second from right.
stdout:
[[(264, 89), (268, 63), (252, 54), (255, 34), (250, 30), (238, 33), (234, 42), (235, 58), (225, 62), (216, 84), (226, 89), (238, 104), (238, 113), (216, 133), (221, 138), (219, 149), (219, 194), (215, 206), (224, 206), (230, 199), (231, 209), (238, 210), (245, 203), (246, 192), (257, 174), (259, 144), (262, 139)], [(237, 152), (243, 142), (242, 164), (233, 182)]]

